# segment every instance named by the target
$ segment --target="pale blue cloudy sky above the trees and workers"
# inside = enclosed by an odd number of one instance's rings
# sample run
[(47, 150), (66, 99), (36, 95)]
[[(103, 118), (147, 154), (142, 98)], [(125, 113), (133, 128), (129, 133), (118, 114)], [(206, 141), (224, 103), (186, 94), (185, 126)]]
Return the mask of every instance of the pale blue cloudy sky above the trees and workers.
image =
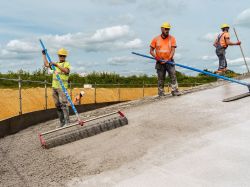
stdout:
[[(9, 0), (1, 1), (0, 72), (43, 67), (41, 38), (54, 61), (69, 50), (72, 72), (154, 75), (149, 54), (160, 25), (170, 22), (177, 40), (176, 62), (216, 70), (213, 40), (220, 25), (235, 27), (250, 66), (250, 2), (247, 0)], [(231, 40), (236, 41), (230, 29)], [(238, 46), (227, 50), (229, 69), (246, 72)], [(186, 74), (194, 72), (177, 68)]]

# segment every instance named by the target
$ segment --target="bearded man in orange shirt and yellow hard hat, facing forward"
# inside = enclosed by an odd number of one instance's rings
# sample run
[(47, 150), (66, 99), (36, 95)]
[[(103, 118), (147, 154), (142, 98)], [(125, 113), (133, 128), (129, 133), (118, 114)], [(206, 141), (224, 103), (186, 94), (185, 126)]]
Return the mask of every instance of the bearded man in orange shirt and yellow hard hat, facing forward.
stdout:
[(160, 61), (166, 60), (174, 63), (175, 48), (177, 46), (175, 37), (169, 34), (170, 28), (170, 24), (168, 22), (164, 22), (161, 25), (161, 35), (156, 36), (150, 44), (150, 54), (156, 59), (155, 69), (157, 70), (158, 75), (158, 95), (160, 97), (165, 96), (164, 82), (166, 78), (166, 72), (168, 72), (168, 75), (171, 79), (172, 95), (181, 95), (178, 90), (175, 65)]

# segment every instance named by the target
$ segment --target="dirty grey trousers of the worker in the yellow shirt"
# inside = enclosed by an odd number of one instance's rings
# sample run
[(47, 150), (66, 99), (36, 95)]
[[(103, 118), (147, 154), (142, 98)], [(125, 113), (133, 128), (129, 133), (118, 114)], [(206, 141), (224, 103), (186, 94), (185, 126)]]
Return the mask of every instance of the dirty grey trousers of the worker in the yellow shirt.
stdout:
[(65, 93), (60, 88), (53, 88), (53, 99), (60, 119), (60, 126), (69, 123), (69, 107)]

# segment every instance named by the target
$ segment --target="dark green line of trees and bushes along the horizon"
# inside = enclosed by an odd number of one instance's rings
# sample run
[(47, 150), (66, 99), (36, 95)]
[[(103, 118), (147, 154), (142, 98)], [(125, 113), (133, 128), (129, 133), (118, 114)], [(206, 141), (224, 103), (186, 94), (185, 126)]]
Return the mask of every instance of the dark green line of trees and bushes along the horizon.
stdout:
[[(208, 70), (204, 70), (208, 71)], [(231, 70), (226, 72), (227, 77), (235, 77), (238, 76), (238, 73), (235, 73)], [(198, 74), (196, 76), (188, 76), (181, 72), (176, 72), (177, 80), (179, 84), (194, 84), (194, 83), (210, 83), (217, 80), (215, 77), (207, 76), (204, 74)], [(19, 70), (17, 72), (9, 71), (8, 73), (0, 73), (0, 78), (7, 79), (18, 79), (22, 80), (30, 80), (30, 81), (47, 81), (51, 83), (52, 75), (48, 74), (46, 69), (38, 69), (33, 72)], [(169, 78), (166, 78), (165, 83), (169, 82)], [(114, 87), (112, 84), (120, 84), (124, 87), (141, 87), (142, 84), (150, 85), (157, 84), (157, 76), (152, 75), (148, 76), (144, 75), (131, 75), (131, 76), (122, 76), (117, 73), (107, 73), (107, 72), (92, 72), (87, 74), (86, 76), (81, 76), (77, 73), (71, 73), (69, 77), (69, 81), (72, 83), (72, 87), (82, 87), (83, 84), (97, 84), (97, 86), (101, 87)], [(102, 84), (102, 85), (99, 85)], [(106, 85), (103, 85), (106, 84)], [(38, 83), (32, 82), (23, 82), (22, 86), (24, 87), (42, 87), (43, 85), (39, 85)], [(9, 80), (1, 80), (0, 79), (0, 87), (1, 88), (16, 88), (17, 82), (9, 81)]]

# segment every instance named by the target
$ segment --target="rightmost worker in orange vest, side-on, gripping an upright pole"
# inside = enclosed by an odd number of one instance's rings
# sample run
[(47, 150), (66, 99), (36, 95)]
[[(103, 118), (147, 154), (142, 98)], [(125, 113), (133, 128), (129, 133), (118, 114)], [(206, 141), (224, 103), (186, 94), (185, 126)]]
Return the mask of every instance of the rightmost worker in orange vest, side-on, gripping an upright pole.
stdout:
[(216, 55), (219, 58), (219, 68), (216, 73), (222, 73), (227, 71), (226, 49), (229, 45), (240, 45), (241, 42), (231, 42), (229, 34), (230, 26), (228, 24), (222, 24), (222, 32), (216, 37), (214, 46), (216, 47)]

